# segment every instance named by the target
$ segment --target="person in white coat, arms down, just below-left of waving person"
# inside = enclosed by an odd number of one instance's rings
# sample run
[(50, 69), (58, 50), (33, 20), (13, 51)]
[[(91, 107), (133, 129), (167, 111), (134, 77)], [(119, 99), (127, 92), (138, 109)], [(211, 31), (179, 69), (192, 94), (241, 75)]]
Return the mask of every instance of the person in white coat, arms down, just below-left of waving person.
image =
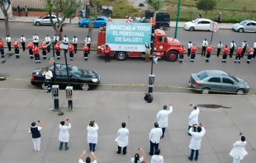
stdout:
[(159, 149), (159, 142), (163, 135), (162, 129), (159, 128), (159, 123), (154, 123), (154, 128), (149, 133), (150, 151), (149, 156), (154, 155), (154, 151)]

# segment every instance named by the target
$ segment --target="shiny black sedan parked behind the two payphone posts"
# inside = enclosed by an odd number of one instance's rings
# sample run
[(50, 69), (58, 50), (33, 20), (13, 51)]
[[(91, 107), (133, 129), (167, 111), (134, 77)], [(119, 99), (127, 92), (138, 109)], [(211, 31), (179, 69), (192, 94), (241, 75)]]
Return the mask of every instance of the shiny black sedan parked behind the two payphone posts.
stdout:
[[(42, 76), (46, 68), (49, 68), (49, 70), (53, 72), (54, 77), (52, 77), (51, 85), (54, 85), (55, 77), (56, 77), (56, 84), (59, 85), (59, 87), (65, 87), (69, 85), (66, 65), (62, 63), (55, 63), (55, 69), (56, 69), (55, 74), (54, 74), (53, 64), (45, 68), (36, 69), (32, 73), (31, 85), (40, 86), (43, 90), (46, 89), (45, 76)], [(69, 68), (70, 85), (73, 86), (74, 88), (79, 88), (83, 91), (88, 91), (92, 87), (97, 86), (101, 81), (101, 78), (97, 74), (97, 72), (83, 70), (73, 65), (68, 65), (68, 68)]]

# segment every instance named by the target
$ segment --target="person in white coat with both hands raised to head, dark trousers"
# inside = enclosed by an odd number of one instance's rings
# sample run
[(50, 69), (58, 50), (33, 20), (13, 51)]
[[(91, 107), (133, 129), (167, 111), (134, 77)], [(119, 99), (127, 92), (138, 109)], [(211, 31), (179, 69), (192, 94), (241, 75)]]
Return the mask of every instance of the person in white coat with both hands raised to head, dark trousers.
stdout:
[(192, 161), (194, 152), (196, 151), (195, 161), (198, 159), (199, 155), (199, 149), (201, 148), (201, 137), (203, 137), (206, 133), (206, 129), (202, 127), (202, 124), (199, 124), (200, 126), (197, 127), (197, 132), (192, 131), (193, 128), (196, 127), (195, 124), (192, 125), (192, 128), (189, 129), (188, 133), (192, 135), (189, 148), (191, 149), (191, 154), (188, 156), (188, 160)]

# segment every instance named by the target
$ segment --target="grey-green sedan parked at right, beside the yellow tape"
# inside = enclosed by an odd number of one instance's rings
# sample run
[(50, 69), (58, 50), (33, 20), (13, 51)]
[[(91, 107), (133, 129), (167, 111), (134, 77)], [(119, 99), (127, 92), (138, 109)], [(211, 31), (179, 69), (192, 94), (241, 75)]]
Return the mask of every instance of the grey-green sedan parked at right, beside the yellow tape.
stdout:
[(249, 85), (239, 77), (230, 76), (220, 70), (205, 70), (192, 73), (188, 81), (190, 87), (198, 89), (203, 94), (209, 91), (220, 93), (236, 93), (243, 95), (249, 92)]

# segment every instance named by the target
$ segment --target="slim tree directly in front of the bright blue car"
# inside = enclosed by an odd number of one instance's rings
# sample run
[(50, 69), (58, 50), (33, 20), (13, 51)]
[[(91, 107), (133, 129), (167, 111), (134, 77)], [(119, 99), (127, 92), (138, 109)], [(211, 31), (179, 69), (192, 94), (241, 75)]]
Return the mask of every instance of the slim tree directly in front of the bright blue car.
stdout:
[(94, 23), (96, 22), (97, 16), (102, 14), (102, 9), (101, 9), (101, 0), (90, 0), (89, 1), (89, 28), (88, 28), (88, 35), (90, 38), (92, 38), (92, 29), (94, 26)]

